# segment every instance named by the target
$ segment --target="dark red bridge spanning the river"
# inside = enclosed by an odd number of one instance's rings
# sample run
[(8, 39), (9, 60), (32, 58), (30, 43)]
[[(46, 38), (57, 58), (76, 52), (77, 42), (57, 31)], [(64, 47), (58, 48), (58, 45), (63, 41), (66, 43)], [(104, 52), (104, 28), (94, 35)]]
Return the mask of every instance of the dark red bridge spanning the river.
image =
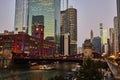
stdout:
[[(100, 54), (93, 53), (93, 59), (101, 60)], [(28, 64), (28, 63), (52, 63), (52, 62), (78, 62), (80, 64), (83, 63), (83, 54), (76, 55), (27, 55), (25, 53), (14, 53), (13, 52), (13, 63), (15, 64)]]

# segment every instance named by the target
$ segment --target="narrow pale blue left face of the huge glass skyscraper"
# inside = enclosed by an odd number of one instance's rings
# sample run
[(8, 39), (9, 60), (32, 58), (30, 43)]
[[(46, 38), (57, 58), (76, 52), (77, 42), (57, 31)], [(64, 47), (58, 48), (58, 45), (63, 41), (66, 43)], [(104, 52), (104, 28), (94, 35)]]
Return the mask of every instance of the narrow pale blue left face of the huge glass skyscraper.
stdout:
[(28, 0), (16, 0), (15, 7), (15, 34), (27, 31)]

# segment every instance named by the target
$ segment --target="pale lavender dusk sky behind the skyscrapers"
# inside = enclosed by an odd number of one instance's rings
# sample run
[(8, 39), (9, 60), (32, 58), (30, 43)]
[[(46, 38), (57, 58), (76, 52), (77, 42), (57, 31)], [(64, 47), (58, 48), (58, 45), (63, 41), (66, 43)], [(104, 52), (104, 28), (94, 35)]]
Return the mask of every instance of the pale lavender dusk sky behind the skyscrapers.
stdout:
[[(78, 46), (90, 38), (90, 31), (99, 36), (99, 23), (109, 30), (114, 27), (117, 15), (116, 0), (69, 0), (69, 6), (77, 9)], [(14, 30), (15, 0), (0, 0), (0, 33)], [(109, 37), (109, 36), (108, 36)]]

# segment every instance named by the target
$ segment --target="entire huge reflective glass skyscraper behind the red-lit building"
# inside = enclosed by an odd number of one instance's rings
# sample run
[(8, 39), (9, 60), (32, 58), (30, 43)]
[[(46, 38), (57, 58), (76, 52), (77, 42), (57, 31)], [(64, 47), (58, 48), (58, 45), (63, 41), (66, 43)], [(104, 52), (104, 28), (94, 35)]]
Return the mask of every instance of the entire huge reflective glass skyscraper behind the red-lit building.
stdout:
[(60, 41), (60, 0), (16, 0), (15, 33), (28, 32), (36, 24), (44, 24), (44, 39)]

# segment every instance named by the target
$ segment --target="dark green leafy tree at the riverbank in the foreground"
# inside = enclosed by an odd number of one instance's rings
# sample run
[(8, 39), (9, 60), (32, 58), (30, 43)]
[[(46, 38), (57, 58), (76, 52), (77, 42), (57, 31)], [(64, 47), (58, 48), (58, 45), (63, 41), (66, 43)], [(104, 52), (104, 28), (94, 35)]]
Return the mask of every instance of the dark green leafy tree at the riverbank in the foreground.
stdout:
[(101, 80), (102, 74), (97, 63), (90, 58), (85, 59), (79, 70), (77, 80)]

